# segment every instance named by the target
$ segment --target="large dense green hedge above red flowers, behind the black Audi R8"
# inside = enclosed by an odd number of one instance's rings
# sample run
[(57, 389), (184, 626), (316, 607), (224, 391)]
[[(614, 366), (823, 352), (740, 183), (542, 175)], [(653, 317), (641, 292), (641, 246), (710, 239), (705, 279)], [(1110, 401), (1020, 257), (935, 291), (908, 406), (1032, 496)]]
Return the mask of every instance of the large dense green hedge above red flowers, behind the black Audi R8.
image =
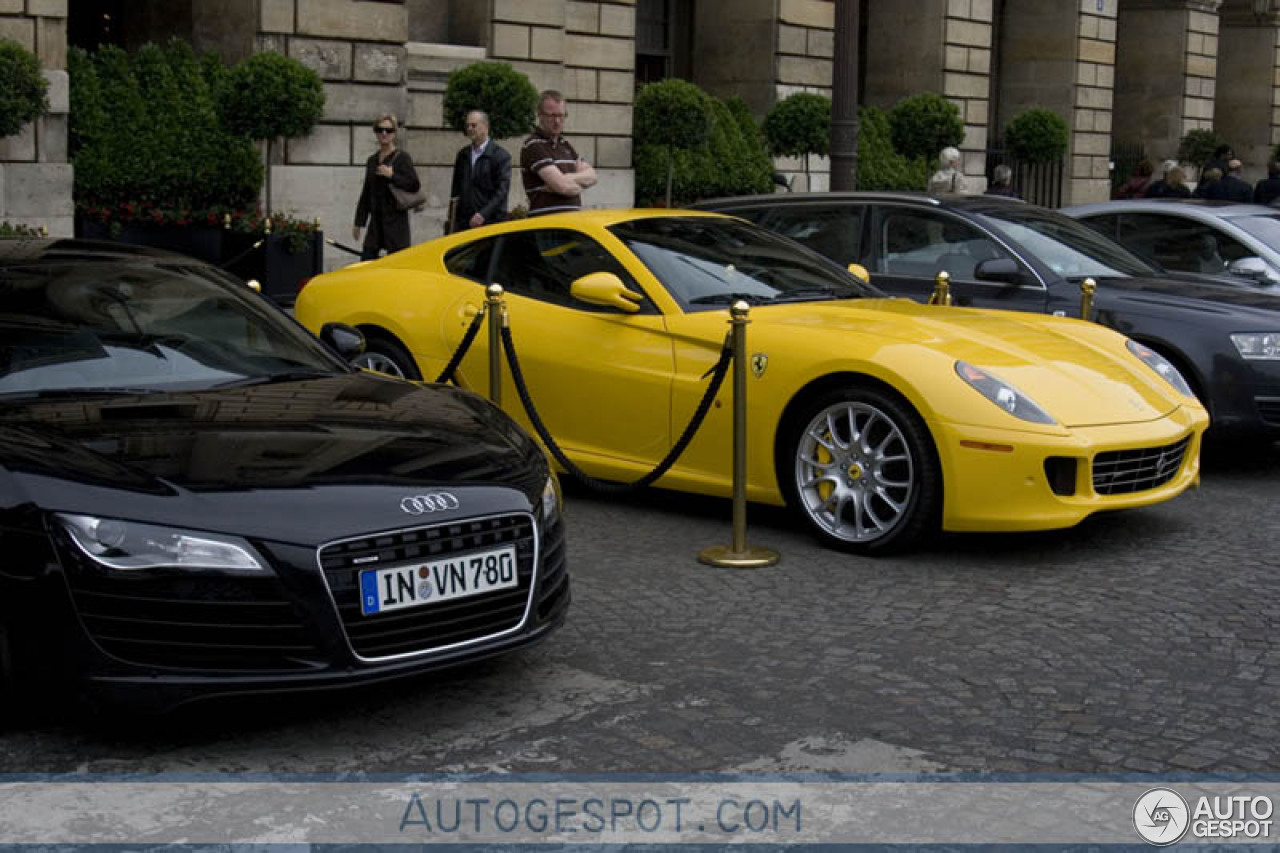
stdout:
[(81, 213), (173, 210), (183, 224), (255, 205), (262, 163), (248, 138), (219, 122), (210, 61), (186, 42), (145, 45), (133, 56), (114, 46), (92, 55), (73, 49), (68, 70)]

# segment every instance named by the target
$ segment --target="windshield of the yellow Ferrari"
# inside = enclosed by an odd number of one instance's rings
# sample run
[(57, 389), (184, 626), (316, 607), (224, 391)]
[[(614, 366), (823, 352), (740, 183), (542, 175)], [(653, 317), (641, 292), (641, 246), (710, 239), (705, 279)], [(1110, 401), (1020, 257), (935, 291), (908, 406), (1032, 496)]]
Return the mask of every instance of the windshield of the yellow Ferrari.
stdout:
[(755, 225), (712, 216), (635, 219), (609, 231), (689, 310), (882, 296), (831, 261)]

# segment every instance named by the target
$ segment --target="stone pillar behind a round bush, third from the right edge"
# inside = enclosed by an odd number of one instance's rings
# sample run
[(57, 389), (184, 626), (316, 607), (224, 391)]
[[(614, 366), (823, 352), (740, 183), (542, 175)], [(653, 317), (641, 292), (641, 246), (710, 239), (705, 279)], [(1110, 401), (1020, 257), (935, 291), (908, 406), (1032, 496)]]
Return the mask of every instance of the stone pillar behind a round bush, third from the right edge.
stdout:
[(1018, 114), (1050, 109), (1070, 128), (1062, 204), (1110, 195), (1117, 0), (1023, 0), (1005, 6), (1000, 45), (1001, 132)]

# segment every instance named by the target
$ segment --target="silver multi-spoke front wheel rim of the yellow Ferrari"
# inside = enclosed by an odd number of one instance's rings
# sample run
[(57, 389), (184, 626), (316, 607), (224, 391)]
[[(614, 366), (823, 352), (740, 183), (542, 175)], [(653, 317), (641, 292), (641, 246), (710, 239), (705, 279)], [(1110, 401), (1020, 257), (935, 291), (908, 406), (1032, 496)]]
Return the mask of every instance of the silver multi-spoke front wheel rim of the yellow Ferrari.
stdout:
[(809, 421), (795, 451), (803, 510), (828, 535), (874, 542), (910, 511), (916, 461), (902, 428), (863, 402), (841, 401)]

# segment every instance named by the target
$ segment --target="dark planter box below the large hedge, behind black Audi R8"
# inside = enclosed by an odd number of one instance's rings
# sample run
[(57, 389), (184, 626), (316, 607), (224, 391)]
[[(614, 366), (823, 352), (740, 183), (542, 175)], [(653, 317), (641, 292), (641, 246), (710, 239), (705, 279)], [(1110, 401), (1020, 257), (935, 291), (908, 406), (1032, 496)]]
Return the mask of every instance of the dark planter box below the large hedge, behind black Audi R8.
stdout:
[(106, 240), (165, 248), (180, 255), (197, 257), (221, 266), (246, 282), (256, 280), (262, 295), (279, 305), (293, 305), (298, 284), (324, 270), (324, 234), (316, 232), (306, 248), (289, 252), (288, 241), (280, 234), (269, 234), (261, 246), (253, 247), (261, 237), (209, 225), (123, 225), (111, 234), (109, 225), (77, 216), (76, 236), (84, 240)]

